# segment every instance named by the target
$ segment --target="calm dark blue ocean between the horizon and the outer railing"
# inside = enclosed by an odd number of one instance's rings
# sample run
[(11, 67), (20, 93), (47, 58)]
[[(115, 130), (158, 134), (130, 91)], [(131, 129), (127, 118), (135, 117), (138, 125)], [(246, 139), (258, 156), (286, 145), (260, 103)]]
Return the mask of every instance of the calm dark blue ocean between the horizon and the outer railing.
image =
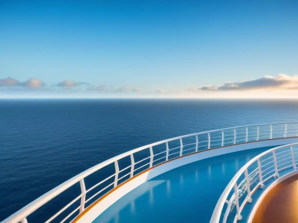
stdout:
[[(89, 167), (139, 146), (287, 121), (298, 121), (298, 101), (0, 100), (0, 221)], [(42, 222), (41, 215), (28, 222)]]

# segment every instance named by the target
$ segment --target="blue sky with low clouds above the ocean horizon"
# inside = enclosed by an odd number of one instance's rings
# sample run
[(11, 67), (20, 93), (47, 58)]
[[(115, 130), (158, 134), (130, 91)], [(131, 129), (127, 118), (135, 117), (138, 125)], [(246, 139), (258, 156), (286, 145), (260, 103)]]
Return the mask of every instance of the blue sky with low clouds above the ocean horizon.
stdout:
[(292, 95), (297, 10), (274, 0), (1, 2), (0, 97)]

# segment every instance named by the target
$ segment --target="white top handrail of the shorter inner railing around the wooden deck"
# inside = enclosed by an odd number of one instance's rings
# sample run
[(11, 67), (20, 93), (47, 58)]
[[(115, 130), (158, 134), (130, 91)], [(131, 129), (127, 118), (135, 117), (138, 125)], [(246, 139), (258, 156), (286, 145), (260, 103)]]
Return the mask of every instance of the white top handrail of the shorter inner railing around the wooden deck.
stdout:
[[(229, 184), (226, 186), (226, 188), (224, 189), (223, 193), (221, 194), (220, 198), (218, 199), (218, 202), (216, 203), (216, 206), (214, 208), (214, 211), (212, 213), (212, 217), (210, 219), (210, 223), (218, 223), (220, 221), (220, 217), (221, 217), (221, 213), (223, 211), (224, 208), (224, 204), (227, 200), (227, 197), (229, 196), (231, 190), (234, 188), (235, 184), (237, 183), (237, 180), (240, 178), (240, 176), (243, 174), (243, 172), (245, 172), (247, 170), (247, 168), (252, 165), (255, 161), (257, 161), (258, 163), (258, 172), (259, 174), (261, 174), (262, 172), (260, 172), (260, 158), (269, 154), (269, 153), (273, 153), (273, 157), (275, 157), (275, 151), (282, 149), (282, 148), (292, 148), (293, 146), (297, 146), (298, 143), (291, 143), (288, 145), (283, 145), (283, 146), (279, 146), (279, 147), (275, 147), (272, 149), (269, 149), (257, 156), (255, 156), (254, 158), (252, 158), (249, 162), (247, 162), (236, 174), (235, 176), (232, 178), (232, 180), (229, 182)], [(292, 149), (291, 149), (292, 151)], [(292, 156), (290, 157), (292, 158)], [(295, 166), (296, 167), (296, 163), (295, 160), (293, 158), (293, 164), (291, 166)], [(289, 167), (291, 167), (289, 166)], [(277, 174), (277, 164), (276, 164), (276, 158), (274, 158), (274, 171), (275, 174), (272, 175), (275, 176)], [(261, 178), (262, 175), (260, 175), (260, 186), (263, 186), (263, 180)], [(277, 174), (278, 177), (278, 174)], [(240, 214), (240, 213), (239, 213)], [(237, 217), (237, 216), (236, 216)]]

